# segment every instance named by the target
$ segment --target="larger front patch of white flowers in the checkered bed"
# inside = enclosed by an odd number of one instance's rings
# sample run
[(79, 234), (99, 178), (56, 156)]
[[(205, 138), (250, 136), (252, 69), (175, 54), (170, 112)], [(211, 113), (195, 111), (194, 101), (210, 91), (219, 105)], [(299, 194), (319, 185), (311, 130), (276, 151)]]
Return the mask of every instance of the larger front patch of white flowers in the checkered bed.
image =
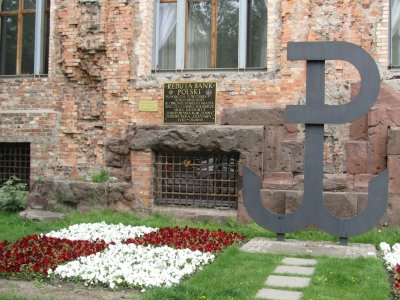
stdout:
[(58, 266), (61, 278), (81, 278), (87, 284), (135, 287), (172, 286), (200, 266), (213, 261), (211, 253), (167, 246), (110, 245), (104, 252)]

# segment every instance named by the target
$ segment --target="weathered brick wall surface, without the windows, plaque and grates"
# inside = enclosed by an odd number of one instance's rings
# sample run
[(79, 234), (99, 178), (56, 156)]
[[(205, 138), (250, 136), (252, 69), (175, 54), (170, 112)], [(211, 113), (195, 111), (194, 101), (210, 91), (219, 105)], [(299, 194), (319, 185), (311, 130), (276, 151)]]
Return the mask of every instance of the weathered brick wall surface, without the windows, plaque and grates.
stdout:
[[(389, 100), (380, 101), (368, 117), (351, 126), (326, 126), (327, 192), (363, 193), (367, 179), (388, 166), (391, 199), (400, 197), (395, 189), (398, 154), (386, 148), (388, 127), (389, 136), (396, 136), (393, 99), (400, 90), (400, 73), (388, 69), (388, 1), (270, 0), (267, 70), (192, 73), (151, 72), (152, 3), (51, 1), (48, 76), (0, 78), (0, 142), (31, 143), (33, 181), (76, 181), (106, 168), (119, 181), (131, 182), (135, 193), (150, 193), (143, 205), (151, 208), (152, 154), (131, 154), (132, 124), (162, 126), (163, 83), (216, 81), (217, 124), (265, 128), (258, 167), (263, 193), (275, 199), (271, 193), (282, 198), (286, 191), (284, 198), (290, 200), (301, 190), (304, 132), (300, 125), (284, 124), (283, 113), (287, 104), (304, 103), (305, 63), (287, 61), (287, 42), (344, 40), (370, 52), (394, 88), (384, 92)], [(328, 62), (326, 80), (328, 104), (348, 102), (357, 92), (359, 76), (348, 63)], [(140, 112), (142, 100), (157, 101), (158, 111)], [(142, 158), (144, 169), (136, 163)], [(362, 200), (346, 201), (353, 203), (351, 214), (360, 211)]]

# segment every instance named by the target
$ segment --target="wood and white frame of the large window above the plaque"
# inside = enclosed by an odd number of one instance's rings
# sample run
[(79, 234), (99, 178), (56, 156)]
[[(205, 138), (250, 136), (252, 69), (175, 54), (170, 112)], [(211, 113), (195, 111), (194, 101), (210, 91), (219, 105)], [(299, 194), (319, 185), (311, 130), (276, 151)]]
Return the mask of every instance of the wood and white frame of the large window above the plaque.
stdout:
[[(238, 66), (232, 68), (216, 68), (217, 45), (216, 37), (211, 40), (211, 68), (204, 69), (188, 69), (187, 62), (187, 3), (202, 0), (154, 0), (154, 18), (153, 18), (153, 49), (152, 49), (152, 64), (153, 72), (171, 72), (171, 71), (201, 71), (201, 70), (245, 70), (245, 69), (263, 69), (267, 68), (267, 64), (261, 67), (246, 67), (247, 63), (247, 33), (248, 33), (248, 5), (247, 0), (239, 0), (239, 32), (238, 32)], [(217, 0), (208, 0), (213, 6), (212, 18), (217, 18)], [(159, 38), (159, 12), (160, 3), (176, 3), (177, 4), (177, 22), (176, 22), (176, 51), (175, 51), (175, 68), (174, 69), (159, 69), (158, 68), (158, 38)], [(212, 32), (216, 32), (216, 22), (212, 22)], [(212, 34), (213, 35), (213, 34)], [(214, 40), (214, 42), (213, 42)], [(267, 49), (267, 48), (266, 48)]]

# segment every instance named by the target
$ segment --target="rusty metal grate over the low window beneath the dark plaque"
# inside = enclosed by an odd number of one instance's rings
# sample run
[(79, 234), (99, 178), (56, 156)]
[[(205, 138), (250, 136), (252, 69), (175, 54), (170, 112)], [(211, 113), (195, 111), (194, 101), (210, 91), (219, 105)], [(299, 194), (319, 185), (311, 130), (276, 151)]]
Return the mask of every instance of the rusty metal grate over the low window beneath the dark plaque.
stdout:
[(237, 208), (237, 154), (159, 152), (155, 203)]

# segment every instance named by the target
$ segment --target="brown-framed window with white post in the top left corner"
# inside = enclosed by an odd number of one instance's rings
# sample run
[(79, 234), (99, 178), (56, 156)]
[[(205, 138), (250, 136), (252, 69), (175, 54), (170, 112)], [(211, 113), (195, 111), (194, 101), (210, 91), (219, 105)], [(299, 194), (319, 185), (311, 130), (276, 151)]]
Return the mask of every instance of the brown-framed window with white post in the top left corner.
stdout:
[(0, 3), (0, 75), (47, 73), (50, 1)]

